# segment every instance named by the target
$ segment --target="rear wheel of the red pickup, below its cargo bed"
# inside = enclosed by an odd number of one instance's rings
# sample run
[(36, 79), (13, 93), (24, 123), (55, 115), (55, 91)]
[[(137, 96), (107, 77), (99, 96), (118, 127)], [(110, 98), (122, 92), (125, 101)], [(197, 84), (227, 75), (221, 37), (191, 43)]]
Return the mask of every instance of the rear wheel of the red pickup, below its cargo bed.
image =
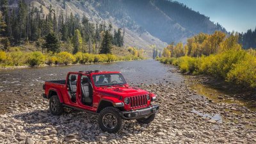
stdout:
[(60, 99), (57, 95), (52, 95), (49, 102), (49, 108), (52, 115), (61, 115), (64, 111)]

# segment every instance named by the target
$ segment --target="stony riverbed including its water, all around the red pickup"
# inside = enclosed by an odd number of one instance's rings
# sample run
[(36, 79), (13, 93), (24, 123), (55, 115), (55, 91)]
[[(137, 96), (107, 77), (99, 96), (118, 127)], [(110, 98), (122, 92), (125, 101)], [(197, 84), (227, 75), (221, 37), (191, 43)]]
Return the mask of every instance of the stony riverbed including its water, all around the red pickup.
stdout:
[[(156, 119), (148, 125), (125, 121), (109, 134), (100, 130), (97, 115), (70, 109), (51, 115), (42, 84), (79, 70), (120, 71), (129, 84), (156, 93)], [(205, 83), (210, 78), (183, 76), (159, 61), (3, 70), (0, 79), (1, 143), (256, 143), (253, 94), (240, 99), (246, 93), (214, 88)]]

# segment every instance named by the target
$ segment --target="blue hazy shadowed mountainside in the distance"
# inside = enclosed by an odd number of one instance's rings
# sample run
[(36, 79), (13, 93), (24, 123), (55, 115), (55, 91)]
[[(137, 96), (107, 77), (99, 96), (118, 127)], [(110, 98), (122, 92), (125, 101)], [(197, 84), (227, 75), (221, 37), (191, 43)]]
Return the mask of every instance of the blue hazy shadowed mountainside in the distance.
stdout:
[(115, 22), (140, 33), (148, 32), (163, 42), (185, 42), (200, 32), (225, 31), (209, 17), (189, 9), (184, 4), (166, 0), (96, 0), (92, 1), (100, 15), (113, 17)]

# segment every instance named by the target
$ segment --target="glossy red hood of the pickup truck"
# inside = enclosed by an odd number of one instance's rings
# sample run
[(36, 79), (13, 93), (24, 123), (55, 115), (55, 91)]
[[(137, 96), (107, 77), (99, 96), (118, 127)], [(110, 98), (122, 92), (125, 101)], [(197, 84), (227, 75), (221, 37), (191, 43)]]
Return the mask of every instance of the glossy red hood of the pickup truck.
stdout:
[(147, 91), (141, 90), (140, 88), (132, 88), (132, 87), (104, 87), (98, 89), (99, 93), (102, 95), (113, 95), (113, 96), (122, 96), (129, 97), (134, 95), (146, 95)]

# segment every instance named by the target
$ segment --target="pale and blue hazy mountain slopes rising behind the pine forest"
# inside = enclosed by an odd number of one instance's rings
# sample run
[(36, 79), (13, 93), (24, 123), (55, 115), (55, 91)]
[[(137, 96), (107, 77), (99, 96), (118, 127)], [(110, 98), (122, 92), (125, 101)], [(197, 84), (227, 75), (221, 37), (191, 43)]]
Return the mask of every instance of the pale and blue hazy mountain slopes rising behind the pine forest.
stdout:
[(86, 15), (94, 23), (111, 22), (114, 29), (125, 29), (125, 45), (148, 51), (150, 45), (162, 49), (170, 42), (185, 43), (188, 37), (200, 32), (225, 31), (209, 17), (167, 0), (26, 0), (26, 3), (38, 8), (42, 5), (46, 14), (52, 6), (57, 15), (61, 11), (67, 15), (72, 12), (80, 17)]

